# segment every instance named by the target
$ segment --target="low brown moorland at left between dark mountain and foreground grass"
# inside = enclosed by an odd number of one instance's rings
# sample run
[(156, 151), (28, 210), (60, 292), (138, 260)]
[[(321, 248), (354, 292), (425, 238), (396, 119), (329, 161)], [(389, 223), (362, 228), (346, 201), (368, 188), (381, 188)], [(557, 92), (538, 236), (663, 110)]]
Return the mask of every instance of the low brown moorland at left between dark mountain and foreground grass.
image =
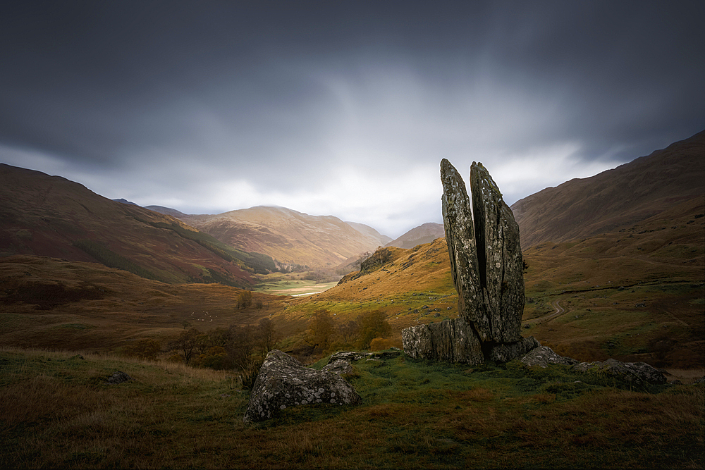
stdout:
[[(0, 344), (108, 352), (131, 340), (162, 347), (188, 328), (252, 325), (284, 297), (253, 293), (262, 308), (238, 309), (243, 290), (222, 284), (166, 284), (96, 263), (47, 256), (0, 258)], [(281, 325), (281, 321), (277, 322)]]

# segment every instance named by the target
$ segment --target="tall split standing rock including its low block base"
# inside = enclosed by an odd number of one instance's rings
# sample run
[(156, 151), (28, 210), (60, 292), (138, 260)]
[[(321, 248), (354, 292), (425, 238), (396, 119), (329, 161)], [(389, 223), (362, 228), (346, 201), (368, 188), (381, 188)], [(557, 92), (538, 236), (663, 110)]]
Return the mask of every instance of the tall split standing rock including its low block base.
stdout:
[(404, 350), (412, 357), (470, 364), (513, 359), (538, 345), (520, 335), (525, 295), (519, 225), (482, 163), (470, 167), (472, 197), (446, 159), (441, 182), (460, 318), (405, 329)]

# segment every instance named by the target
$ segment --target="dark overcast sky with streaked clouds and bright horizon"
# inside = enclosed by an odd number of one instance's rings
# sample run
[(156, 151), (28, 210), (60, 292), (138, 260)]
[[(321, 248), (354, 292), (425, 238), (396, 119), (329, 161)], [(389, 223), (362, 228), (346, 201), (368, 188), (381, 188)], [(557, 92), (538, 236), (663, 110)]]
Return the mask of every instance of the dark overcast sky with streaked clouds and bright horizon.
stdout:
[(398, 237), (441, 159), (505, 202), (705, 129), (705, 2), (8, 1), (0, 162)]

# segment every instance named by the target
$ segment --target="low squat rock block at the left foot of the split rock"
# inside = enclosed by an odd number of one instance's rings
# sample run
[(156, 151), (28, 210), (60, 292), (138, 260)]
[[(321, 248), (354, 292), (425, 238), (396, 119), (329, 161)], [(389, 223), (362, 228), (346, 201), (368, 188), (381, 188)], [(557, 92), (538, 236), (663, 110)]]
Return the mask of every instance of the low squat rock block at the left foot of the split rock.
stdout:
[(465, 319), (417, 325), (401, 332), (404, 351), (414, 359), (480, 364), (482, 344)]

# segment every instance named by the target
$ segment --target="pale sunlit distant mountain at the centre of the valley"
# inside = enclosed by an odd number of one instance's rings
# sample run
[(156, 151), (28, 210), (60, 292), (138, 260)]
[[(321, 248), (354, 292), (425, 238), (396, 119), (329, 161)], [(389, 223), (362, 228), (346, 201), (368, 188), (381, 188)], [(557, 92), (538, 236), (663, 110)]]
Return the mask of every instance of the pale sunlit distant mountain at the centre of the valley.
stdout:
[[(309, 216), (285, 207), (256, 206), (180, 220), (248, 252), (268, 254), (284, 265), (334, 268), (380, 244), (333, 216)], [(378, 234), (379, 235), (379, 234)]]

